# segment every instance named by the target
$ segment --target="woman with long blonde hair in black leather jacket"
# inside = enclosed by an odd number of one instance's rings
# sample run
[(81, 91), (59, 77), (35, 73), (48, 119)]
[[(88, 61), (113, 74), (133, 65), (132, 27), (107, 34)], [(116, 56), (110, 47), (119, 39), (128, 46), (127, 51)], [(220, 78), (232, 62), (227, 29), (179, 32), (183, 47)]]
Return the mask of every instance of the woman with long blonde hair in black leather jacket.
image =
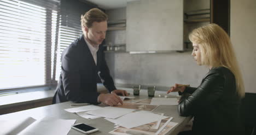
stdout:
[(182, 94), (181, 116), (194, 116), (189, 134), (242, 134), (239, 110), (245, 89), (228, 34), (209, 24), (193, 30), (189, 39), (194, 60), (210, 71), (197, 88), (175, 84), (167, 92)]

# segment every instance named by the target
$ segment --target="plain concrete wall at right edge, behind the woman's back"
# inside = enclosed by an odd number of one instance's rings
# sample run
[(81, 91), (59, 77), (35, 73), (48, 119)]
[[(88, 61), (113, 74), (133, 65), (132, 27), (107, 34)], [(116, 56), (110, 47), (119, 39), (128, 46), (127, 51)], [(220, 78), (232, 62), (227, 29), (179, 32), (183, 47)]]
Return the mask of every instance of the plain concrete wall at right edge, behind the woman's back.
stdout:
[(232, 0), (230, 38), (245, 81), (246, 92), (256, 93), (256, 1)]

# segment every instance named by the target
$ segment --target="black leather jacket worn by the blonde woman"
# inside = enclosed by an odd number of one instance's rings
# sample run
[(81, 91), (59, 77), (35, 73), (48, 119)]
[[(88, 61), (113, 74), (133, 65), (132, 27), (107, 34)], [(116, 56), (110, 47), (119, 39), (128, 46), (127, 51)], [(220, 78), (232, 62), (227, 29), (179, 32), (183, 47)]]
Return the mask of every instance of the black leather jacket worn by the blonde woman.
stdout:
[(243, 134), (240, 104), (234, 74), (228, 68), (216, 67), (199, 87), (185, 89), (178, 111), (181, 116), (194, 116), (193, 134)]

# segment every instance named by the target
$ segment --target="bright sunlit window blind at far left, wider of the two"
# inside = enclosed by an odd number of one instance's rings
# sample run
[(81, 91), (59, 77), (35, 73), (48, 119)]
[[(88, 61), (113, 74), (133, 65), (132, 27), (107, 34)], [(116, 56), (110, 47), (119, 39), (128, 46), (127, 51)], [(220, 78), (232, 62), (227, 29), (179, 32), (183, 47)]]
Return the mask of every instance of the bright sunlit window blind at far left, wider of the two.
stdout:
[(0, 0), (0, 90), (51, 86), (59, 0)]

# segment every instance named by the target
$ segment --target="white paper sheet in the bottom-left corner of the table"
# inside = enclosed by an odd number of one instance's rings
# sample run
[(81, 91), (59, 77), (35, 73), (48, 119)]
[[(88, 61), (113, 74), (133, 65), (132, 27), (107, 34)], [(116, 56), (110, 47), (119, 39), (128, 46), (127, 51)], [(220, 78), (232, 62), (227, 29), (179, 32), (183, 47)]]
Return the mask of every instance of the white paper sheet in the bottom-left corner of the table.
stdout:
[(36, 121), (36, 119), (31, 117), (15, 120), (0, 120), (0, 134), (18, 134), (34, 121)]

